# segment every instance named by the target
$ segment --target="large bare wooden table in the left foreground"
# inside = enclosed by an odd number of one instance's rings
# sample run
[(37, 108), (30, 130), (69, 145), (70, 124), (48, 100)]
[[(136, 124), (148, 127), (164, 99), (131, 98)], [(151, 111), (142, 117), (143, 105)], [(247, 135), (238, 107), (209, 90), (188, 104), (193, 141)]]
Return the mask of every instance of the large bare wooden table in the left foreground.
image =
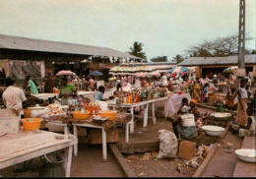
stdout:
[[(58, 134), (60, 135), (60, 134)], [(22, 130), (19, 134), (0, 137), (0, 169), (27, 161), (34, 157), (58, 150), (65, 149), (64, 168), (66, 177), (70, 176), (73, 146), (78, 144), (78, 139), (55, 139), (56, 134), (40, 131), (39, 134)], [(60, 135), (63, 136), (63, 135)]]

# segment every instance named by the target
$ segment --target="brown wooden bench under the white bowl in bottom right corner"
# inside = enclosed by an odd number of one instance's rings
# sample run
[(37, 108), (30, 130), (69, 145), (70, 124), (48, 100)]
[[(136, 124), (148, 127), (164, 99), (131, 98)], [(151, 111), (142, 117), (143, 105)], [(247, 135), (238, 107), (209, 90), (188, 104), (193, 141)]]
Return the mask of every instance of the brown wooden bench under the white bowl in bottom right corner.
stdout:
[[(244, 137), (242, 149), (255, 149), (255, 137)], [(256, 163), (242, 161), (237, 156), (233, 177), (256, 177)]]

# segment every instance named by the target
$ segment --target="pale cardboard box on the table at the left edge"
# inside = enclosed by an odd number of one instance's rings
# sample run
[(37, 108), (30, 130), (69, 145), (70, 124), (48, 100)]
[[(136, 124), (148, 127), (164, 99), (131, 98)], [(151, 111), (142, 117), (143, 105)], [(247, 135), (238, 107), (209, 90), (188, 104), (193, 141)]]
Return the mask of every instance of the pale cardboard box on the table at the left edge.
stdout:
[(18, 134), (21, 130), (21, 115), (11, 109), (0, 109), (0, 132)]

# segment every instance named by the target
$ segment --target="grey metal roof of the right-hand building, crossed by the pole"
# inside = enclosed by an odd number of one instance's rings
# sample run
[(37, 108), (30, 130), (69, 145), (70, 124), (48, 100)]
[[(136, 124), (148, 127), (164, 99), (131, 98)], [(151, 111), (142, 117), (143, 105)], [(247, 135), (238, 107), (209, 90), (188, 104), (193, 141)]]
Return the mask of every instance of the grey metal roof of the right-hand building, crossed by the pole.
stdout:
[[(203, 65), (237, 65), (238, 56), (227, 57), (191, 57), (179, 63), (179, 66), (203, 66)], [(256, 64), (256, 55), (245, 55), (244, 64)]]

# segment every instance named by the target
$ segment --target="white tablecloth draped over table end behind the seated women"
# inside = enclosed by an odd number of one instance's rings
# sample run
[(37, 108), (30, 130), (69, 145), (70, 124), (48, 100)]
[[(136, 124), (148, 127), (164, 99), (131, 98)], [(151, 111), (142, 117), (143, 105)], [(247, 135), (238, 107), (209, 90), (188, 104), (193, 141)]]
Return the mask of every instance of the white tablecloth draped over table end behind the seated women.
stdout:
[(167, 103), (167, 113), (168, 116), (175, 114), (175, 112), (178, 111), (178, 108), (181, 105), (181, 100), (183, 97), (186, 97), (188, 101), (191, 100), (191, 96), (189, 93), (184, 93), (181, 95), (172, 95), (171, 97), (168, 98), (168, 103)]

